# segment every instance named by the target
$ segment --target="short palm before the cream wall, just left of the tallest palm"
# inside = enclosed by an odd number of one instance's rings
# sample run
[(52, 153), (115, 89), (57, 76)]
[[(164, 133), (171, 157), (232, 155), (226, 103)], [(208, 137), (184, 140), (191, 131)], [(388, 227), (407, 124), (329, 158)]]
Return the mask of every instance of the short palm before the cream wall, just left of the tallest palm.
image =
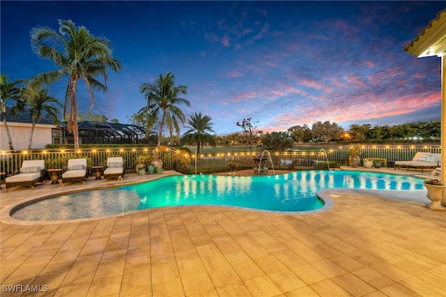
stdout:
[(57, 123), (59, 121), (57, 119), (57, 116), (62, 105), (54, 96), (50, 96), (48, 94), (48, 89), (36, 89), (31, 86), (27, 86), (22, 93), (23, 97), (26, 100), (26, 104), (29, 106), (31, 120), (33, 121), (33, 124), (31, 125), (31, 135), (29, 136), (28, 144), (28, 149), (31, 149), (34, 128), (36, 127), (37, 121), (42, 118), (45, 112), (47, 116), (52, 117), (54, 123)]

